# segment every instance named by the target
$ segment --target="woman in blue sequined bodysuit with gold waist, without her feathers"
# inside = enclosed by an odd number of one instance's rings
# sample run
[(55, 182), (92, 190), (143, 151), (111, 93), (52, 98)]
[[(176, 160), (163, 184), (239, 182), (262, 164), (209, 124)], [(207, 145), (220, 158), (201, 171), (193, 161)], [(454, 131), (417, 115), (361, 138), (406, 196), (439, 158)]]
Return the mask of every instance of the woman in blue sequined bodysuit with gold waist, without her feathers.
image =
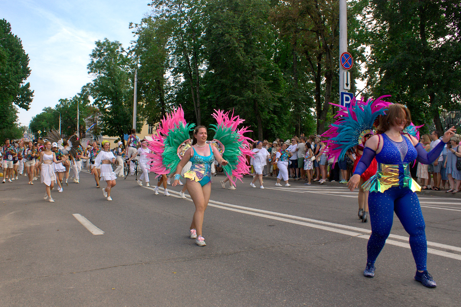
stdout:
[(426, 152), (417, 139), (408, 134), (401, 134), (410, 122), (410, 112), (406, 107), (401, 104), (391, 104), (388, 107), (386, 115), (379, 118), (378, 130), (384, 133), (368, 139), (363, 156), (348, 186), (351, 191), (358, 187), (360, 175), (376, 156), (378, 170), (362, 185), (365, 191), (370, 192), (368, 207), (372, 226), (372, 234), (367, 245), (367, 263), (363, 274), (366, 277), (374, 276), (374, 262), (389, 236), (395, 212), (405, 231), (410, 235), (409, 243), (417, 268), (414, 279), (426, 287), (435, 287), (436, 283), (426, 268), (425, 223), (420, 202), (415, 193), (415, 191), (420, 191), (421, 187), (410, 175), (410, 163), (413, 163), (414, 159), (423, 164), (434, 162), (440, 156), (450, 137), (455, 134), (455, 127), (447, 130), (442, 141), (430, 152)]

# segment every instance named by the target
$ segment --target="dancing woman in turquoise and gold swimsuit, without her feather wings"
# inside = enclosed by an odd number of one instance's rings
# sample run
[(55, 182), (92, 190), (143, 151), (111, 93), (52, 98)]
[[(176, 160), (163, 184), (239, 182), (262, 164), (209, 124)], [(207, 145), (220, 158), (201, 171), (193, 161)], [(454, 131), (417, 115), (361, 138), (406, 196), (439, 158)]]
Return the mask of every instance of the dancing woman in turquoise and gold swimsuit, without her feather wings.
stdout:
[(190, 238), (195, 239), (199, 246), (205, 246), (205, 239), (202, 237), (203, 214), (207, 209), (211, 194), (211, 163), (214, 159), (221, 165), (227, 165), (227, 161), (219, 154), (216, 146), (207, 142), (207, 128), (198, 126), (194, 129), (192, 147), (185, 153), (179, 162), (174, 175), (173, 186), (179, 184), (180, 174), (187, 162), (192, 162), (189, 171), (184, 173), (187, 190), (195, 204), (195, 213), (190, 225)]

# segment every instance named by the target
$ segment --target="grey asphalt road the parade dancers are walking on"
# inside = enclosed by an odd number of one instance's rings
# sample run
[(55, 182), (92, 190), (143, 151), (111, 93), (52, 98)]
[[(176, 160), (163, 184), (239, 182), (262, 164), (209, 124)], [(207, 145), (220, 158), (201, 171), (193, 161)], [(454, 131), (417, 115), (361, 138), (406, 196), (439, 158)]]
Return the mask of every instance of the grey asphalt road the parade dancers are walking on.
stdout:
[(80, 184), (53, 191), (48, 203), (40, 181), (1, 184), (0, 306), (461, 305), (461, 200), (420, 198), (437, 281), (429, 289), (413, 279), (396, 217), (375, 277), (363, 277), (370, 223), (357, 219), (357, 194), (343, 185), (285, 188), (266, 179), (261, 190), (245, 178), (232, 191), (221, 179), (205, 213), (205, 247), (188, 237), (194, 205), (177, 197), (180, 186), (155, 196), (128, 177), (109, 202), (81, 173)]

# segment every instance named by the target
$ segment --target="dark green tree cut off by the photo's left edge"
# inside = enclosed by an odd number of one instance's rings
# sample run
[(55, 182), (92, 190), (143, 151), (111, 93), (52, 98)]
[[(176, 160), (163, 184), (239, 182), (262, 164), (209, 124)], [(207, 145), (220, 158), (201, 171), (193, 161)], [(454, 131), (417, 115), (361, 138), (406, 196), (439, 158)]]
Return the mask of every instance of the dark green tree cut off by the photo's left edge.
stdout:
[(11, 25), (0, 20), (0, 134), (17, 135), (17, 107), (29, 110), (33, 91), (29, 82), (29, 56), (24, 52), (22, 42), (11, 33)]

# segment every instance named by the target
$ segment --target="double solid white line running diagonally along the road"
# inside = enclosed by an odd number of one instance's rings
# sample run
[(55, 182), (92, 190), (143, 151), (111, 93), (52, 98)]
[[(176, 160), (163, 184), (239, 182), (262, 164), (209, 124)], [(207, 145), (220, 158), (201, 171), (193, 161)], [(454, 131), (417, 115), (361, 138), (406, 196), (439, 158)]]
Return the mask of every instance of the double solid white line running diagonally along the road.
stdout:
[[(145, 187), (145, 188), (150, 189), (150, 190), (154, 190), (153, 188), (150, 188), (150, 187)], [(160, 188), (160, 189), (163, 189), (163, 188)], [(169, 192), (179, 194), (179, 192), (177, 192), (177, 191), (169, 190)], [(188, 196), (188, 198), (184, 198), (184, 200), (188, 200), (188, 201), (192, 202), (192, 199), (190, 198), (190, 195), (189, 194), (185, 194), (185, 195)], [(175, 196), (175, 195), (172, 195), (172, 196)], [(179, 196), (175, 196), (175, 197), (179, 197)], [(181, 197), (179, 197), (179, 198), (181, 198)], [(354, 226), (330, 223), (330, 222), (326, 222), (326, 221), (322, 221), (322, 220), (314, 220), (314, 219), (304, 218), (304, 217), (301, 217), (301, 216), (283, 214), (283, 213), (267, 211), (267, 210), (261, 210), (261, 209), (255, 209), (255, 208), (250, 208), (250, 207), (238, 206), (238, 205), (233, 205), (233, 204), (230, 204), (230, 203), (221, 203), (221, 202), (213, 201), (213, 200), (209, 201), (208, 206), (219, 208), (219, 209), (225, 209), (225, 210), (229, 210), (229, 211), (234, 211), (234, 212), (239, 212), (239, 213), (243, 213), (243, 214), (260, 216), (260, 217), (264, 217), (264, 218), (271, 219), (271, 220), (279, 220), (279, 221), (283, 221), (283, 222), (287, 222), (287, 223), (291, 223), (291, 224), (308, 226), (308, 227), (311, 227), (311, 228), (317, 228), (317, 229), (326, 230), (326, 231), (330, 231), (330, 232), (341, 233), (341, 234), (348, 235), (348, 236), (351, 236), (351, 237), (360, 237), (360, 238), (364, 238), (364, 239), (369, 239), (369, 237), (370, 237), (369, 234), (363, 234), (363, 233), (360, 233), (360, 232), (371, 233), (370, 230), (365, 229), (365, 228), (359, 228), (359, 227), (354, 227)], [(239, 209), (237, 209), (237, 208), (239, 208)], [(245, 210), (242, 210), (242, 209), (245, 209)], [(252, 212), (252, 211), (254, 211), (254, 212)], [(263, 213), (267, 213), (267, 214), (263, 214)], [(273, 215), (268, 215), (268, 214), (273, 214)], [(279, 217), (279, 216), (283, 216), (283, 217)], [(290, 217), (290, 218), (293, 218), (293, 219), (296, 219), (296, 220), (287, 219), (287, 218), (284, 218), (284, 217)], [(306, 222), (299, 221), (299, 220), (310, 221), (311, 223), (306, 223)], [(316, 224), (312, 224), (312, 223), (317, 223), (317, 224), (321, 224), (321, 225), (316, 225)], [(323, 225), (328, 225), (328, 226), (323, 226)], [(349, 230), (343, 230), (343, 229), (338, 229), (338, 228), (329, 227), (329, 226), (336, 226), (336, 227), (339, 227), (339, 228), (355, 230), (355, 231), (359, 231), (359, 232), (352, 232), (352, 231), (349, 231)], [(389, 237), (394, 238), (394, 239), (398, 239), (398, 240), (405, 240), (406, 242), (408, 242), (408, 237), (394, 235), (394, 234), (390, 234)], [(388, 244), (395, 245), (395, 246), (400, 246), (400, 247), (404, 247), (404, 248), (409, 249), (410, 244), (408, 244), (406, 242), (400, 242), (400, 241), (395, 241), (395, 240), (390, 240), (390, 239), (386, 240), (386, 243), (388, 243)], [(452, 251), (461, 252), (461, 247), (457, 247), (457, 246), (451, 246), (451, 245), (447, 245), (447, 244), (430, 242), (430, 241), (427, 241), (427, 245), (432, 246), (432, 247), (438, 247), (438, 248), (449, 249), (449, 250), (452, 250)], [(450, 253), (450, 252), (443, 251), (443, 250), (428, 248), (427, 252), (429, 254), (433, 254), (433, 255), (439, 255), (439, 256), (443, 256), (443, 257), (447, 257), (447, 258), (461, 260), (461, 255)]]

